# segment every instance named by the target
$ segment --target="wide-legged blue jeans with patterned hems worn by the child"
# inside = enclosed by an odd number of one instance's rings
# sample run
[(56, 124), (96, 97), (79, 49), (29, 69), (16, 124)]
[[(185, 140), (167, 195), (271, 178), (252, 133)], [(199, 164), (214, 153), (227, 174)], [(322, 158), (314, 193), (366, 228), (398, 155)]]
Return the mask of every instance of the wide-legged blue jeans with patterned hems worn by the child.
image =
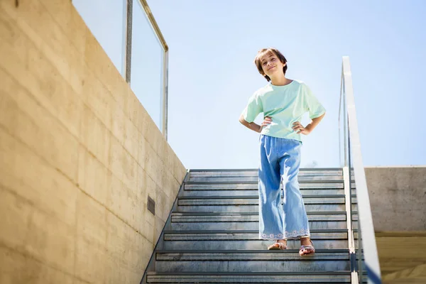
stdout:
[(301, 236), (310, 236), (305, 204), (297, 181), (302, 142), (261, 135), (259, 143), (259, 239), (299, 239)]

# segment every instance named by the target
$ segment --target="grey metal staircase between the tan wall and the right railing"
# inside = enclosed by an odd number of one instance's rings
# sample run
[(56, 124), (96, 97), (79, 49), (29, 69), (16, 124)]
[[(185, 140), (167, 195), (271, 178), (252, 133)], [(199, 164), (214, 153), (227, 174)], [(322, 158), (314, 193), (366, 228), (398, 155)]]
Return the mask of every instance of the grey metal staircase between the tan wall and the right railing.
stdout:
[(141, 283), (351, 283), (354, 182), (346, 198), (342, 168), (301, 169), (298, 180), (314, 256), (299, 256), (300, 241), (268, 251), (258, 239), (257, 170), (190, 170)]

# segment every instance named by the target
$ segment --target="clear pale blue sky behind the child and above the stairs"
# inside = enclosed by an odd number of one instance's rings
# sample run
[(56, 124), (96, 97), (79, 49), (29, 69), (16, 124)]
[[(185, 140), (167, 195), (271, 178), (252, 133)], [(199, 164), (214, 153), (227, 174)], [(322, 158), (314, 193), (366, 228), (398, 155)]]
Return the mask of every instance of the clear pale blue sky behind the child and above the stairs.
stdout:
[(288, 77), (306, 82), (327, 109), (304, 137), (302, 167), (339, 166), (343, 55), (351, 60), (364, 165), (426, 164), (426, 1), (148, 4), (170, 48), (168, 136), (186, 168), (258, 167), (258, 133), (238, 119), (267, 83), (253, 64), (265, 47), (278, 48)]

